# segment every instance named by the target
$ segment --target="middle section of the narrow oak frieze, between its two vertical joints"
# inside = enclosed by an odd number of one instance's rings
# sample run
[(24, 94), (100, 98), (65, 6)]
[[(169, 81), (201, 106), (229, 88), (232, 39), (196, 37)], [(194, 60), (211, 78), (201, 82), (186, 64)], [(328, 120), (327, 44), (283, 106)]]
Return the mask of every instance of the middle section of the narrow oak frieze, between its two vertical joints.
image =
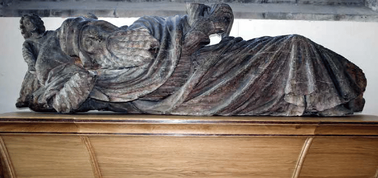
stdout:
[[(262, 134), (262, 135), (306, 135), (313, 134), (314, 125), (279, 125), (279, 124), (112, 124), (93, 123), (77, 124), (80, 133), (149, 133), (149, 134)], [(377, 127), (378, 128), (378, 127)]]

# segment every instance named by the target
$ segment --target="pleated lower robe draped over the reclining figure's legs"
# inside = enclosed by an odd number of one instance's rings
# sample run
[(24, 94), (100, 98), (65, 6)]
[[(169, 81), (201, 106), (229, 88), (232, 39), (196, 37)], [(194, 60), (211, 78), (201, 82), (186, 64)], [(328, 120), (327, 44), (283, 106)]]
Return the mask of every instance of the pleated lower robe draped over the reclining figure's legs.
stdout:
[[(160, 114), (293, 116), (334, 109), (364, 91), (357, 84), (365, 80), (357, 66), (299, 35), (228, 37), (192, 60), (200, 65), (177, 92), (134, 105)], [(347, 65), (358, 71), (358, 79)]]

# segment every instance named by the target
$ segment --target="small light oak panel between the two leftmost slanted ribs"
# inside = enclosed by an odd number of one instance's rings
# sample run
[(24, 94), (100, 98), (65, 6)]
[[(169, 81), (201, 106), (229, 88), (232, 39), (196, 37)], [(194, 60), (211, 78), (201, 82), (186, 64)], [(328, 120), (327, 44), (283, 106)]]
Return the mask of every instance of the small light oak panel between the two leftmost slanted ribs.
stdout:
[(2, 135), (16, 177), (93, 177), (88, 152), (79, 136)]

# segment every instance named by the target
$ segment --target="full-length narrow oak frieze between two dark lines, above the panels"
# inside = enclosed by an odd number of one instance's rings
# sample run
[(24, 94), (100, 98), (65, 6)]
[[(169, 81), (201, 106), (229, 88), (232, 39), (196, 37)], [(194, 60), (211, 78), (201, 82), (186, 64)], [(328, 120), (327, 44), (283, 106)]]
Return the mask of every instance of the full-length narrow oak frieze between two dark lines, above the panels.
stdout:
[[(378, 123), (378, 122), (377, 122)], [(0, 122), (1, 134), (378, 136), (377, 125)]]

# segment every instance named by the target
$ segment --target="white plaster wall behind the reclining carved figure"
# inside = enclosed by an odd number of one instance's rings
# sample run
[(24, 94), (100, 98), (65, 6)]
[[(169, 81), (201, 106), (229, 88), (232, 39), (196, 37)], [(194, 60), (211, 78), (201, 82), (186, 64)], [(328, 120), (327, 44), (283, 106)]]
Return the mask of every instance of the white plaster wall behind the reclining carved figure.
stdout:
[[(20, 111), (15, 107), (27, 65), (22, 57), (20, 18), (0, 18), (0, 113)], [(43, 18), (47, 30), (55, 30), (62, 18)], [(135, 18), (104, 18), (117, 26)], [(261, 36), (299, 34), (312, 39), (359, 66), (367, 78), (362, 114), (378, 115), (378, 23), (333, 21), (235, 20), (231, 36), (251, 39)], [(212, 39), (219, 40), (219, 39)], [(212, 42), (214, 43), (214, 42)]]

